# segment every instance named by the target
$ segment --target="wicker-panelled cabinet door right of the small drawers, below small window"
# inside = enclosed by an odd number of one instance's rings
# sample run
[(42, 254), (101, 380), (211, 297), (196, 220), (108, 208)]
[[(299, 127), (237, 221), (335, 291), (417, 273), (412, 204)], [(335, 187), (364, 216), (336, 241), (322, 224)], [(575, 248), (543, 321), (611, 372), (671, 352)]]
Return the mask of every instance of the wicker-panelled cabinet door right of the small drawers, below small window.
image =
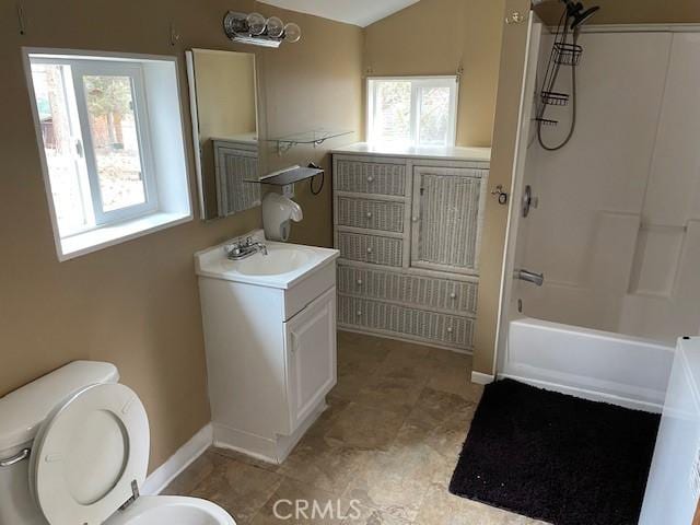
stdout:
[(488, 170), (413, 167), (411, 266), (477, 275)]

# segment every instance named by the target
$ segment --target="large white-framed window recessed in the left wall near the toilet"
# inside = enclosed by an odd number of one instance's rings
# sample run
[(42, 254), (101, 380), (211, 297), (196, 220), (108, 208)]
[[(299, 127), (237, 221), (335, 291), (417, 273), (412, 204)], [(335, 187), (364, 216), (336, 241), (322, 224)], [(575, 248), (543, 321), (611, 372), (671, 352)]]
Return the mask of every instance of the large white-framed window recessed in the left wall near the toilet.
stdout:
[(59, 258), (191, 217), (174, 60), (26, 58)]

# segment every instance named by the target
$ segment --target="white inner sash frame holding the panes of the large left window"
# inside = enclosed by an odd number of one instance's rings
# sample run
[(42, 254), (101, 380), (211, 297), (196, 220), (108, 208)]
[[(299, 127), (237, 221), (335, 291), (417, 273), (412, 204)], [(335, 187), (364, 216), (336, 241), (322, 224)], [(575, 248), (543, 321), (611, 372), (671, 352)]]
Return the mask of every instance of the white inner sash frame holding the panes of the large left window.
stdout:
[[(136, 219), (158, 210), (158, 186), (155, 182), (155, 162), (153, 160), (151, 149), (151, 130), (149, 126), (148, 96), (145, 93), (143, 80), (143, 66), (136, 61), (113, 60), (108, 58), (100, 59), (97, 57), (78, 57), (66, 58), (61, 56), (30, 56), (30, 65), (45, 63), (56, 66), (68, 66), (70, 68), (70, 88), (72, 89), (67, 100), (71, 108), (70, 115), (71, 126), (77, 125), (78, 132), (74, 133), (80, 141), (78, 148), (82, 150), (82, 159), (84, 162), (85, 173), (80, 173), (81, 179), (85, 179), (89, 195), (83, 195), (83, 207), (86, 211), (86, 220), (89, 222), (82, 229), (71, 230), (62, 235), (61, 238), (94, 230), (96, 228), (114, 224), (117, 222)], [(88, 109), (88, 97), (83, 84), (83, 77), (103, 75), (103, 77), (128, 77), (131, 81), (131, 94), (133, 103), (133, 116), (136, 120), (136, 132), (139, 145), (139, 160), (141, 163), (141, 176), (143, 180), (144, 201), (138, 205), (118, 208), (116, 210), (105, 211), (102, 199), (100, 185), (100, 174), (97, 170), (97, 161), (93, 144), (92, 129), (90, 126), (90, 115)], [(68, 85), (63, 86), (67, 91)], [(33, 94), (33, 103), (36, 105), (36, 95)], [(72, 107), (74, 105), (74, 107)], [(77, 121), (73, 119), (77, 117)], [(82, 172), (82, 170), (81, 170)], [(81, 180), (82, 183), (82, 180)]]

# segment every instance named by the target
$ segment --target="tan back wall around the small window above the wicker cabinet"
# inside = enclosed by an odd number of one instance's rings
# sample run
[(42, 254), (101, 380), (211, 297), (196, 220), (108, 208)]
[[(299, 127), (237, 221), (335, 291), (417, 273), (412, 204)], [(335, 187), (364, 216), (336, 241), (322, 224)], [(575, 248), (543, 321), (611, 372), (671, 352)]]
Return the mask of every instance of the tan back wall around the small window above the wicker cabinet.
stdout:
[(504, 0), (421, 0), (365, 30), (370, 75), (455, 74), (457, 145), (491, 145)]

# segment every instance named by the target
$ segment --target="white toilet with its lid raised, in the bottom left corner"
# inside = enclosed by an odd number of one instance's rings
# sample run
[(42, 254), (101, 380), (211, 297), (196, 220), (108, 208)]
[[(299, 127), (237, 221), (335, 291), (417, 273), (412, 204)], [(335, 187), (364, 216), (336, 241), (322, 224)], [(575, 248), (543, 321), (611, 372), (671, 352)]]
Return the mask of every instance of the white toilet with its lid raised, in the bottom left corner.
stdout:
[(235, 525), (206, 500), (139, 494), (149, 421), (118, 378), (75, 361), (0, 398), (0, 525)]

